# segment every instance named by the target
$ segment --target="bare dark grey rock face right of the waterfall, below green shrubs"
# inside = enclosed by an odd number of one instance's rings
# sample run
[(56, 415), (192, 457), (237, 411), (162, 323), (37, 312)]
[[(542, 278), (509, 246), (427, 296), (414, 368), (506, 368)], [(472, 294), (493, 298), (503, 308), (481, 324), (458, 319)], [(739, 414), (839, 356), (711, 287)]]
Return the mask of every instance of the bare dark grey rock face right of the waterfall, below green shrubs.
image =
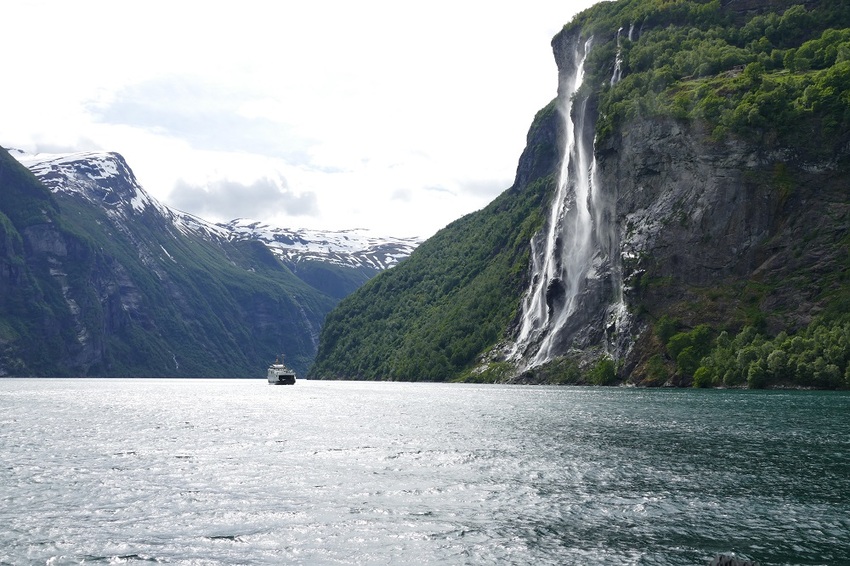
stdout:
[[(601, 148), (600, 187), (614, 199), (625, 303), (625, 370), (652, 322), (730, 321), (794, 330), (818, 312), (824, 273), (843, 269), (847, 167), (790, 149), (717, 142), (698, 125), (639, 120)], [(763, 318), (761, 318), (763, 317)]]

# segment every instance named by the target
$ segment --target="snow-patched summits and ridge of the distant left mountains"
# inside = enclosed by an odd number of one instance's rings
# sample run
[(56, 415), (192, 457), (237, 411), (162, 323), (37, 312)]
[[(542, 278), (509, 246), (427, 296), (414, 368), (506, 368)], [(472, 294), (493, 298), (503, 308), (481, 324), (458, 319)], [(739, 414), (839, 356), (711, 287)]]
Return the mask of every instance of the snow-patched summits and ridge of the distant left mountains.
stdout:
[(292, 266), (312, 260), (382, 271), (409, 256), (421, 243), (420, 238), (382, 237), (364, 229), (290, 229), (245, 218), (214, 224), (169, 208), (150, 196), (118, 153), (29, 154), (19, 149), (11, 149), (9, 153), (51, 191), (76, 193), (102, 206), (115, 219), (142, 213), (150, 207), (183, 233), (228, 241), (256, 240)]

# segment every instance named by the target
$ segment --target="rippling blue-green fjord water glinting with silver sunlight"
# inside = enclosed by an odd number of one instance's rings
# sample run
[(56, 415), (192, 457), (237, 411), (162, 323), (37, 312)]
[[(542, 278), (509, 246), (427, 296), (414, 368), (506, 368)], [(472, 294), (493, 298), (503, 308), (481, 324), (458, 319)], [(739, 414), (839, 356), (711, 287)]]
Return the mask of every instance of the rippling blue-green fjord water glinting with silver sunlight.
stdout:
[(0, 380), (0, 563), (850, 557), (850, 395)]

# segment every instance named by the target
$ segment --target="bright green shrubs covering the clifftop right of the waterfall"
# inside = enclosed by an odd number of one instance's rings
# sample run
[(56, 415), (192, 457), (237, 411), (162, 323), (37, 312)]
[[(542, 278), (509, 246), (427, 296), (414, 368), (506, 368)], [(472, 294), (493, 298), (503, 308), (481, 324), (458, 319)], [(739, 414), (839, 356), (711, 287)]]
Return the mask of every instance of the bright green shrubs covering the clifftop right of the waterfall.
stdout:
[[(719, 2), (620, 3), (589, 11), (585, 33), (617, 29), (624, 79), (604, 84), (597, 69), (588, 88), (600, 90), (601, 137), (635, 116), (705, 120), (715, 135), (799, 143), (801, 150), (832, 150), (850, 124), (850, 6), (824, 0), (811, 9), (794, 5), (768, 12), (741, 26)], [(596, 13), (608, 12), (602, 18)], [(613, 20), (613, 21), (612, 21)], [(606, 27), (603, 25), (607, 23)], [(592, 25), (591, 25), (592, 24)], [(576, 23), (572, 25), (577, 25)], [(651, 26), (651, 27), (650, 27)], [(613, 41), (611, 41), (613, 43)], [(605, 72), (599, 72), (604, 70)]]

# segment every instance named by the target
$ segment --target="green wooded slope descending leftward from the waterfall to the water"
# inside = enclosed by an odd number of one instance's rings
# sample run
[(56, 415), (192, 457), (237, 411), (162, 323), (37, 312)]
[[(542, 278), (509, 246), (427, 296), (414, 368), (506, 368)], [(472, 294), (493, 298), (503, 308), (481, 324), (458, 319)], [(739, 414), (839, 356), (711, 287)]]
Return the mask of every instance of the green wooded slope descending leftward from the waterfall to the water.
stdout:
[(469, 367), (516, 316), (529, 241), (554, 183), (554, 106), (531, 128), (517, 184), (450, 224), (328, 316), (312, 377), (441, 381)]

